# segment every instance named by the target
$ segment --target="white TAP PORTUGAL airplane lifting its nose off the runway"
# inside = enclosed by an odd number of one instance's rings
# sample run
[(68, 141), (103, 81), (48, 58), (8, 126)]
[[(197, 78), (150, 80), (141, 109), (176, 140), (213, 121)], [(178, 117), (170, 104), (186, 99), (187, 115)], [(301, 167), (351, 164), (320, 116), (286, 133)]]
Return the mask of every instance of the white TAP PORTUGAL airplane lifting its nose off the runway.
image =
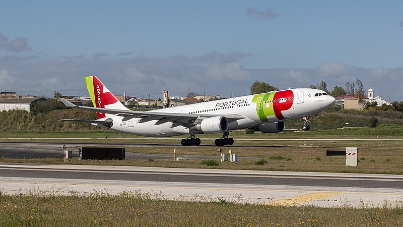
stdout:
[(182, 146), (200, 145), (197, 134), (223, 133), (214, 141), (216, 146), (232, 145), (230, 131), (253, 129), (262, 133), (280, 133), (285, 122), (303, 119), (303, 130), (309, 130), (309, 116), (331, 105), (334, 97), (311, 88), (271, 91), (235, 98), (226, 98), (189, 105), (174, 106), (149, 111), (135, 111), (125, 107), (98, 80), (96, 76), (84, 77), (94, 107), (79, 106), (64, 98), (69, 107), (95, 111), (97, 120), (62, 119), (90, 123), (117, 132), (147, 137), (189, 135), (181, 140)]

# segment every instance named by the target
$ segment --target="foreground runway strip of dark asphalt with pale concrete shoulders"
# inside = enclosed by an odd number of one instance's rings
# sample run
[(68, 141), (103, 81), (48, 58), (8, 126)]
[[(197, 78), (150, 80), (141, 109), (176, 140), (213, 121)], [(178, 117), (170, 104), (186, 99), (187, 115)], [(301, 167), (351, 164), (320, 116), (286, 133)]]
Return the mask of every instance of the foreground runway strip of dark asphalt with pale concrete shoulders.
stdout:
[(141, 191), (173, 200), (322, 207), (403, 203), (403, 176), (0, 163), (8, 194)]

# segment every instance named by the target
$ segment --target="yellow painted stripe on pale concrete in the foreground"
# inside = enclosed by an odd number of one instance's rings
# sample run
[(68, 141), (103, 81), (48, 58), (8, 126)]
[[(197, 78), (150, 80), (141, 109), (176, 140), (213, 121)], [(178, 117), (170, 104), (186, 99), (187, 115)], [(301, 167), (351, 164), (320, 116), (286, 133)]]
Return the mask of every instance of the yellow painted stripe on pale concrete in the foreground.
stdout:
[(295, 196), (287, 199), (280, 199), (274, 202), (266, 203), (265, 205), (274, 205), (274, 206), (295, 206), (295, 205), (300, 205), (306, 202), (312, 202), (313, 200), (318, 200), (318, 199), (325, 199), (325, 198), (330, 198), (333, 196), (338, 196), (341, 193), (336, 193), (336, 192), (312, 192), (306, 195), (301, 195), (301, 196)]

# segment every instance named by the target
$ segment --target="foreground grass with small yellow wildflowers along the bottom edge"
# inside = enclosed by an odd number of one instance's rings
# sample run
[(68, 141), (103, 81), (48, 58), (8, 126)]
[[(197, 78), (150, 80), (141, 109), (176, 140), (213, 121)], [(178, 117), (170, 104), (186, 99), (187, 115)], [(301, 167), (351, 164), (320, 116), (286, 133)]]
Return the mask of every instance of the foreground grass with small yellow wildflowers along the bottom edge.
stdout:
[[(200, 199), (200, 198), (199, 198)], [(193, 200), (193, 201), (192, 201)], [(236, 198), (234, 198), (236, 201)], [(6, 195), (0, 191), (0, 226), (401, 226), (403, 203), (381, 208), (337, 206), (285, 207), (201, 201), (159, 194), (106, 192), (53, 195), (34, 192)]]

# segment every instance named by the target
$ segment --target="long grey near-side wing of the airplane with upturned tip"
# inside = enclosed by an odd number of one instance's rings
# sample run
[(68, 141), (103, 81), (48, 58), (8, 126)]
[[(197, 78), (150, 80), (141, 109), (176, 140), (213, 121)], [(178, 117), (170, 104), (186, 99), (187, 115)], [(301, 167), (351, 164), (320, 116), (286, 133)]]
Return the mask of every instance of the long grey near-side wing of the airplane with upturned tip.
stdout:
[[(153, 110), (135, 111), (135, 110), (107, 109), (107, 108), (97, 108), (97, 107), (75, 105), (64, 98), (60, 98), (60, 100), (66, 106), (69, 106), (72, 108), (83, 109), (83, 110), (87, 110), (87, 111), (109, 113), (112, 115), (123, 117), (122, 121), (128, 121), (132, 118), (141, 118), (142, 120), (140, 120), (140, 122), (148, 122), (148, 121), (157, 120), (155, 125), (163, 124), (166, 122), (173, 122), (173, 123), (178, 123), (178, 125), (183, 125), (185, 127), (191, 127), (205, 118), (210, 118), (210, 117), (214, 117), (214, 116), (224, 116), (228, 119), (228, 122), (233, 122), (233, 121), (237, 121), (237, 120), (245, 118), (244, 116), (238, 115), (238, 114), (193, 115), (193, 114), (189, 114), (189, 113), (155, 112)], [(63, 121), (71, 121), (71, 120), (72, 119), (64, 119)], [(79, 121), (83, 121), (83, 120), (77, 120), (77, 122), (79, 122)], [(84, 120), (84, 121), (86, 121), (86, 120)], [(99, 123), (99, 122), (94, 121), (94, 122), (88, 122), (88, 123)]]

